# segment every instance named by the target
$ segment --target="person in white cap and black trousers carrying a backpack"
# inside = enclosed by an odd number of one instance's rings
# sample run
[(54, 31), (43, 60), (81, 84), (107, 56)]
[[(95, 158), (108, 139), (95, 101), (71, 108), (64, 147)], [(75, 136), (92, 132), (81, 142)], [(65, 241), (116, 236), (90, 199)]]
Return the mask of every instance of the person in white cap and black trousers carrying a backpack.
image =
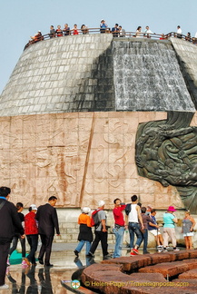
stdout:
[(101, 241), (103, 250), (103, 260), (109, 260), (111, 259), (111, 255), (107, 251), (107, 226), (106, 213), (105, 211), (103, 211), (104, 204), (104, 201), (99, 201), (98, 209), (92, 213), (92, 224), (94, 225), (95, 238), (87, 256), (94, 257), (94, 252), (97, 249), (99, 242)]

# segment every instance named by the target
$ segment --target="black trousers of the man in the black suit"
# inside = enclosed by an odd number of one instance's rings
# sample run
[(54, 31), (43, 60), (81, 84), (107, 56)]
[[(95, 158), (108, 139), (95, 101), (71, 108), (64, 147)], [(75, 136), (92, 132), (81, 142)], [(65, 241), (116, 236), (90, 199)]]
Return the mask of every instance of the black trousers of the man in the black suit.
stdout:
[[(42, 246), (39, 252), (38, 260), (44, 260), (44, 264), (49, 264), (50, 263), (50, 257), (51, 257), (51, 251), (52, 251), (52, 243), (54, 240), (54, 235), (53, 236), (47, 236), (40, 234), (40, 238), (42, 241)], [(45, 258), (44, 258), (45, 254)]]

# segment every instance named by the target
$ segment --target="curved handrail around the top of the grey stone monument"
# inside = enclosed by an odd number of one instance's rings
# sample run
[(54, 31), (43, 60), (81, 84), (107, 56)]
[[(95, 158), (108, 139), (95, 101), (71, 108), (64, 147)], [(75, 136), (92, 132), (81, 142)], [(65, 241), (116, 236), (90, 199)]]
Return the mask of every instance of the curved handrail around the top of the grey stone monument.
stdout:
[[(153, 39), (160, 39), (160, 40), (167, 40), (169, 37), (177, 37), (177, 38), (181, 38), (182, 40), (188, 41), (192, 44), (197, 44), (197, 38), (194, 37), (188, 37), (187, 35), (184, 34), (180, 34), (178, 35), (175, 32), (170, 32), (168, 34), (150, 34), (150, 33), (144, 33), (144, 32), (140, 32), (137, 33), (136, 32), (112, 32), (111, 28), (106, 27), (106, 28), (101, 28), (101, 27), (96, 27), (96, 28), (85, 28), (85, 29), (77, 29), (78, 34), (113, 34), (114, 38), (117, 37), (135, 37), (136, 39), (138, 38), (153, 38)], [(31, 44), (40, 42), (40, 41), (44, 41), (44, 40), (48, 40), (48, 39), (53, 39), (53, 38), (59, 38), (59, 37), (63, 37), (63, 36), (68, 36), (68, 35), (73, 35), (73, 36), (77, 36), (78, 34), (74, 34), (74, 29), (71, 29), (70, 31), (62, 31), (62, 35), (57, 35), (56, 33), (53, 34), (41, 34), (41, 35), (35, 35), (33, 40), (30, 40), (27, 44), (25, 44), (25, 49), (27, 47), (29, 47)], [(24, 49), (24, 50), (25, 50)]]

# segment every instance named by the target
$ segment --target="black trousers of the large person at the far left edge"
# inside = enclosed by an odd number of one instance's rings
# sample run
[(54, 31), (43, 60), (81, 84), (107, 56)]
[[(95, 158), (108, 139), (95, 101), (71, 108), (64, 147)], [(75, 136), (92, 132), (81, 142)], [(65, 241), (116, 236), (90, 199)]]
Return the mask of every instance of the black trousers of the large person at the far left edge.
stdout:
[(10, 243), (0, 243), (0, 286), (5, 284), (5, 272), (7, 265), (7, 257), (10, 249)]

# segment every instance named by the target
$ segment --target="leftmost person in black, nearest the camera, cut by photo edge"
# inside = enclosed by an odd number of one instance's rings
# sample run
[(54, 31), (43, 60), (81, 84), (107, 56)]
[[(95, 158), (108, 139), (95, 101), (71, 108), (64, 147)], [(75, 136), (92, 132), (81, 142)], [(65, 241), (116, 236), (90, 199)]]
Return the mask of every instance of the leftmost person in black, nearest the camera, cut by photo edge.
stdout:
[(11, 241), (17, 228), (21, 238), (25, 238), (24, 228), (15, 210), (15, 205), (9, 202), (11, 189), (0, 187), (0, 289), (8, 289), (5, 284), (6, 261)]

